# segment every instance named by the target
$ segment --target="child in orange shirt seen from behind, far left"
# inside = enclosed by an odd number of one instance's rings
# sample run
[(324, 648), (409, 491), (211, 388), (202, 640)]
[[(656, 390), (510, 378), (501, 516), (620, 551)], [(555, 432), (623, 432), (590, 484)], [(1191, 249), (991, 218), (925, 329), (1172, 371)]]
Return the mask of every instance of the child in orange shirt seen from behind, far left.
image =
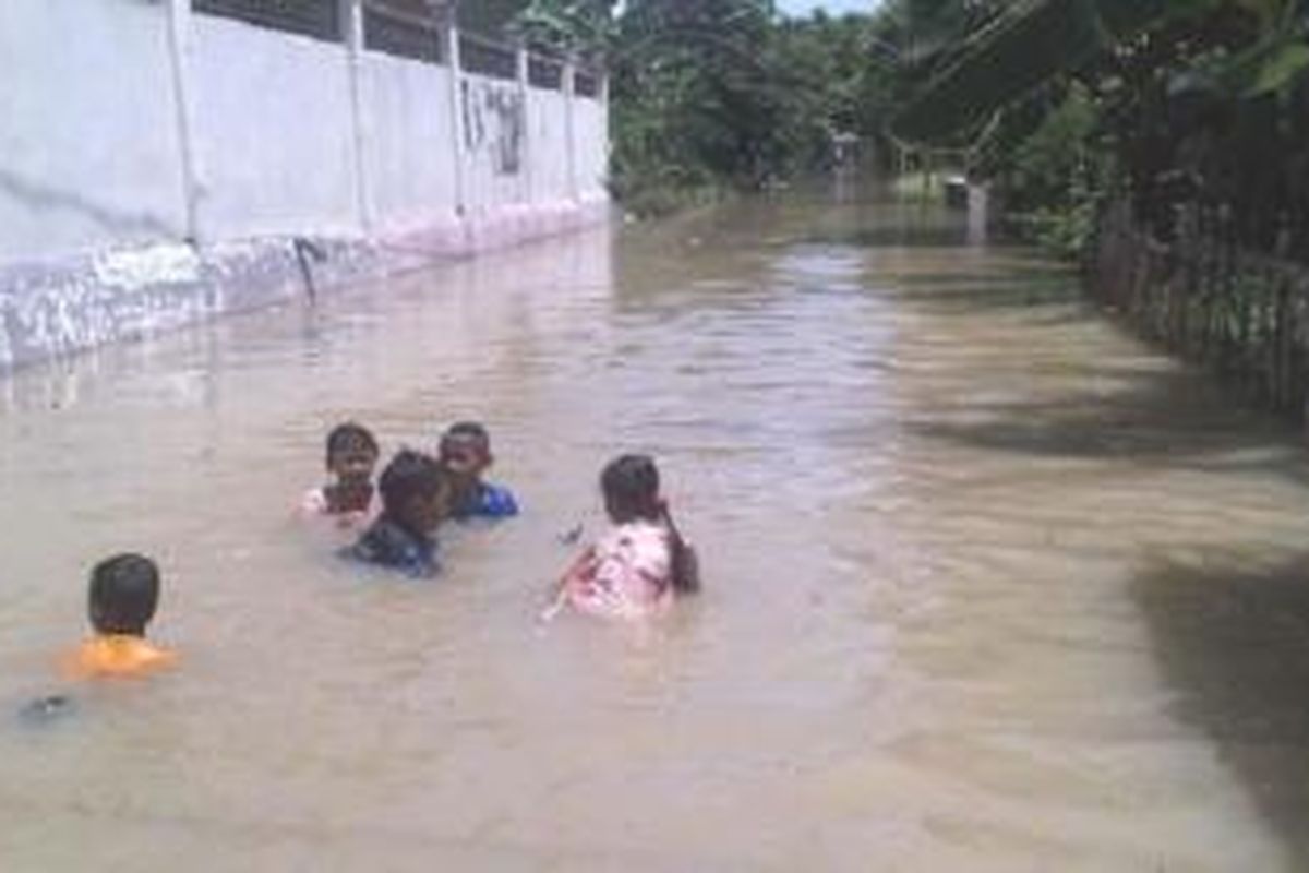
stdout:
[(145, 639), (160, 599), (160, 572), (143, 555), (115, 555), (90, 572), (88, 613), (96, 636), (64, 662), (69, 678), (141, 675), (171, 666), (177, 654)]

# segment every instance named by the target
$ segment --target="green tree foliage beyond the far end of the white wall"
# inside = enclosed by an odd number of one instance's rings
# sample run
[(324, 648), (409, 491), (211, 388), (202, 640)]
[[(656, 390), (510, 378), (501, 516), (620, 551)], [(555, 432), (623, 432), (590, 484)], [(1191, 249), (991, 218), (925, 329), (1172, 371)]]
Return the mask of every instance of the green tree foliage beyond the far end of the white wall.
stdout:
[(605, 64), (611, 175), (637, 211), (821, 166), (835, 134), (876, 136), (885, 110), (890, 60), (868, 16), (795, 21), (772, 0), (520, 0), (505, 22)]

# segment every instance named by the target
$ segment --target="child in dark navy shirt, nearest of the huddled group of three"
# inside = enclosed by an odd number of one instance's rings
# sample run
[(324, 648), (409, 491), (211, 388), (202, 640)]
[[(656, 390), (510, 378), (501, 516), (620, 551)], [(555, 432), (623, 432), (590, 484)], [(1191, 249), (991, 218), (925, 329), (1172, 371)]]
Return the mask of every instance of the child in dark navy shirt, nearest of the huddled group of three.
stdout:
[(436, 576), (433, 533), (449, 516), (449, 474), (436, 459), (406, 449), (386, 465), (378, 490), (382, 514), (346, 555), (415, 579)]

